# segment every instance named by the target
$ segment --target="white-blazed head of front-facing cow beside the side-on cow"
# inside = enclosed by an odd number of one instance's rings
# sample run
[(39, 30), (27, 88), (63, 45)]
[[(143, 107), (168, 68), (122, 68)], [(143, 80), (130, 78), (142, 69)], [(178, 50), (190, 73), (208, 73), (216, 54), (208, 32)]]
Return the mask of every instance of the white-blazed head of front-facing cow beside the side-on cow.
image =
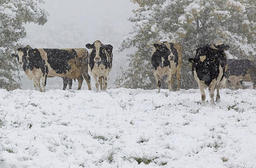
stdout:
[(104, 45), (99, 40), (96, 40), (93, 44), (86, 44), (86, 48), (91, 49), (90, 55), (94, 56), (95, 62), (100, 62), (102, 55), (105, 55), (106, 52), (111, 53), (113, 50), (112, 45)]

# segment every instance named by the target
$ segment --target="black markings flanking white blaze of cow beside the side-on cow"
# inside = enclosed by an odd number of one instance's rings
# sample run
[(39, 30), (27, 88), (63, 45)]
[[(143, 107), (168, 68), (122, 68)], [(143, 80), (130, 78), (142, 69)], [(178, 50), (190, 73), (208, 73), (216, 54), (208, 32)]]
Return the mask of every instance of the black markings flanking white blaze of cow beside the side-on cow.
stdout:
[[(91, 68), (91, 70), (93, 69), (95, 62), (94, 62), (94, 58), (96, 56), (96, 48), (93, 44), (86, 44), (86, 47), (89, 49), (92, 49), (92, 51), (90, 52), (89, 55), (89, 66)], [(97, 65), (99, 67), (99, 65), (103, 65), (105, 66), (105, 69), (107, 68), (112, 68), (112, 61), (113, 61), (113, 54), (112, 54), (112, 50), (113, 50), (113, 46), (110, 44), (101, 44), (101, 47), (99, 47), (99, 57), (101, 58), (101, 61), (97, 62)], [(105, 53), (105, 51), (108, 53), (109, 55), (109, 61), (107, 59), (107, 54)]]

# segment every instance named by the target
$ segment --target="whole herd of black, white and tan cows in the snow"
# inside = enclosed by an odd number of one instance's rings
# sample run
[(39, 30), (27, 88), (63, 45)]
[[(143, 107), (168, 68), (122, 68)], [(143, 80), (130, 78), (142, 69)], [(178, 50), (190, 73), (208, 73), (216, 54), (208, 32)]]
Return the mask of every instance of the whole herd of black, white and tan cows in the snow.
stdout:
[[(173, 75), (177, 77), (177, 90), (180, 90), (182, 46), (178, 42), (159, 41), (153, 45), (151, 65), (156, 79), (158, 92), (160, 92), (161, 79), (167, 75), (166, 83), (172, 91)], [(108, 75), (112, 69), (113, 46), (102, 44), (96, 40), (93, 44), (86, 44), (90, 53), (85, 48), (31, 48), (26, 46), (18, 48), (18, 54), (12, 54), (18, 59), (19, 65), (29, 79), (33, 79), (35, 90), (45, 92), (46, 79), (49, 77), (62, 77), (63, 90), (72, 80), (78, 80), (78, 90), (81, 89), (83, 79), (91, 90), (90, 71), (93, 76), (97, 91), (106, 90)], [(203, 103), (206, 99), (204, 89), (209, 87), (211, 103), (214, 104), (214, 90), (217, 89), (216, 100), (220, 98), (219, 89), (232, 87), (242, 88), (242, 82), (251, 81), (256, 87), (255, 63), (248, 59), (227, 59), (225, 50), (228, 45), (218, 41), (211, 45), (197, 48), (196, 55), (189, 59), (192, 63), (193, 76), (198, 83)], [(40, 79), (42, 87), (40, 86)]]

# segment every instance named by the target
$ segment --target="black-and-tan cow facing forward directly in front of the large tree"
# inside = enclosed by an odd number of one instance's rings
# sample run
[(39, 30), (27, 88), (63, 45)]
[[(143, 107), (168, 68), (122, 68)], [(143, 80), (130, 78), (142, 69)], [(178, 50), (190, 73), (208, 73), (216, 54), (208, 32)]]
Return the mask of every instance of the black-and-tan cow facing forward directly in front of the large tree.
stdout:
[(160, 93), (161, 79), (167, 75), (169, 91), (173, 87), (173, 75), (177, 77), (177, 90), (180, 90), (182, 46), (178, 42), (159, 41), (153, 45), (151, 65)]

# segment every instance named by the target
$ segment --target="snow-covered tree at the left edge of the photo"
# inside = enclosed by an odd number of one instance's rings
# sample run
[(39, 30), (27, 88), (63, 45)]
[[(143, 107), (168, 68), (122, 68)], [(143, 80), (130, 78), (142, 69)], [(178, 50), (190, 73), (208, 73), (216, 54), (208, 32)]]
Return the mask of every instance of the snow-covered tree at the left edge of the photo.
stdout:
[(48, 13), (38, 7), (43, 0), (0, 0), (0, 88), (13, 90), (20, 88), (19, 65), (13, 61), (11, 51), (26, 37), (24, 23), (43, 25)]

